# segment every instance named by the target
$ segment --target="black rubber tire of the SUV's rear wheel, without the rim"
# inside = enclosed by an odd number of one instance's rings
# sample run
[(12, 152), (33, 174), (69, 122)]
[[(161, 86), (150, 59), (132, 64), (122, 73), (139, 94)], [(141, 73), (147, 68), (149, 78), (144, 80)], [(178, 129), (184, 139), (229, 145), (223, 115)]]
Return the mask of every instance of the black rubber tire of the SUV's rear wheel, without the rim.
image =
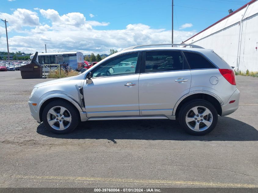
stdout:
[[(188, 127), (188, 125), (186, 123), (186, 115), (187, 115), (188, 111), (195, 106), (203, 106), (205, 108), (208, 108), (212, 114), (212, 124), (206, 130), (203, 130), (203, 131), (192, 130), (190, 127)], [(188, 134), (205, 135), (205, 134), (210, 133), (216, 127), (216, 124), (218, 122), (218, 113), (217, 113), (216, 108), (211, 103), (209, 103), (205, 100), (202, 100), (202, 99), (195, 99), (195, 100), (191, 100), (191, 101), (185, 103), (181, 107), (178, 120), (179, 120), (181, 127), (183, 127), (184, 130)], [(194, 123), (194, 122), (191, 122), (191, 123)]]

